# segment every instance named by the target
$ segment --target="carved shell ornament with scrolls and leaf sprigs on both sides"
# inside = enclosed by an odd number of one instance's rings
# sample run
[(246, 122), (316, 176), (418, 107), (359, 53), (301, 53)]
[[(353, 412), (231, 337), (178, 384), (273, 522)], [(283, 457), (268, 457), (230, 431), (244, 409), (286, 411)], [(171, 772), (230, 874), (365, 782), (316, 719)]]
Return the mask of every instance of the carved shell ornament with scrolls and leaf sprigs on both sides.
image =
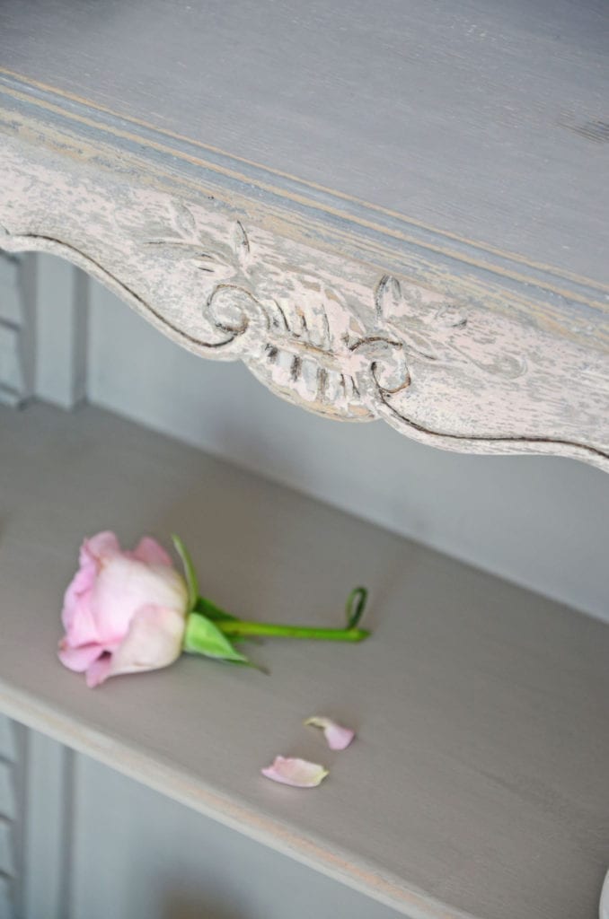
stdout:
[(431, 291), (385, 275), (373, 303), (355, 305), (317, 276), (263, 264), (241, 221), (224, 247), (211, 245), (189, 208), (174, 202), (169, 229), (147, 245), (189, 259), (206, 276), (202, 313), (227, 336), (224, 353), (320, 414), (376, 417), (379, 401), (407, 389), (421, 364), (469, 364), (508, 379), (525, 369), (513, 357), (485, 363), (467, 354), (455, 335), (465, 312)]

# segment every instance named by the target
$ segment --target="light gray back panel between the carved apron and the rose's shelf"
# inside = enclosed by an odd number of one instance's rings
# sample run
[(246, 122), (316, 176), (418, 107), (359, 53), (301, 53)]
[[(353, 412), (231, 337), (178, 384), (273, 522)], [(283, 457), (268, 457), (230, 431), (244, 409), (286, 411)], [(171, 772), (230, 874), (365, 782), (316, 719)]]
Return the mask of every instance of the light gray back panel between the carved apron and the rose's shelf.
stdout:
[(95, 283), (89, 309), (93, 402), (609, 619), (609, 476), (328, 421), (271, 395), (241, 364), (190, 355)]

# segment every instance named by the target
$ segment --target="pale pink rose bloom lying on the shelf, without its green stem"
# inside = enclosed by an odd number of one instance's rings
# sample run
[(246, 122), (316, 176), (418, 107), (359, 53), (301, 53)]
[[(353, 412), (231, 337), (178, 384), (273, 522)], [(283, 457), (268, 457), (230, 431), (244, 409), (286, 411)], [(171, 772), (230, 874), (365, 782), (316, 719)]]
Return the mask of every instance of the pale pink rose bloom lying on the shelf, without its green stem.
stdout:
[(144, 537), (121, 551), (114, 533), (86, 539), (63, 598), (59, 657), (86, 685), (167, 667), (182, 652), (188, 590), (167, 552)]

